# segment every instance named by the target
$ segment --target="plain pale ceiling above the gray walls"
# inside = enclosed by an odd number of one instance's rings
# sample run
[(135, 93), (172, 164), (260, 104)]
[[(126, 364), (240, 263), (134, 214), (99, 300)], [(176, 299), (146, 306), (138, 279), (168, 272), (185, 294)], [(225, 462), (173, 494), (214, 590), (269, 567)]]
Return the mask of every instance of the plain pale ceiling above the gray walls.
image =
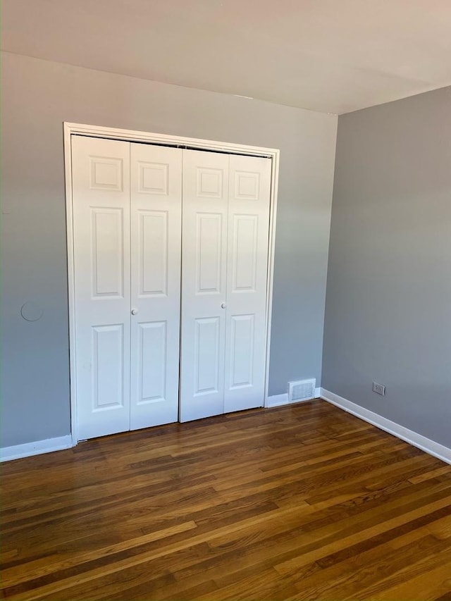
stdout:
[(347, 113), (451, 85), (450, 0), (3, 0), (2, 49)]

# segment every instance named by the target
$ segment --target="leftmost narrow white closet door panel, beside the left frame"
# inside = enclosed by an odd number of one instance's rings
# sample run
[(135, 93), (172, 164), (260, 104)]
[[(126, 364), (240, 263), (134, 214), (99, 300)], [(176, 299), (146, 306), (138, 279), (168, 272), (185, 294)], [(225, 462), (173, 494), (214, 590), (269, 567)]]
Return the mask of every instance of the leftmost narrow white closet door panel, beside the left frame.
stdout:
[(75, 136), (78, 436), (130, 428), (129, 144)]

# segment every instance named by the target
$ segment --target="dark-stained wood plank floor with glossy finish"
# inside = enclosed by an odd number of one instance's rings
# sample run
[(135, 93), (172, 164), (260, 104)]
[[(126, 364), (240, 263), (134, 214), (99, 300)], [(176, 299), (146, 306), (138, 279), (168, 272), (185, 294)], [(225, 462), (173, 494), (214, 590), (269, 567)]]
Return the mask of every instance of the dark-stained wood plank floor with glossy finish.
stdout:
[(451, 600), (451, 466), (320, 400), (2, 472), (11, 600)]

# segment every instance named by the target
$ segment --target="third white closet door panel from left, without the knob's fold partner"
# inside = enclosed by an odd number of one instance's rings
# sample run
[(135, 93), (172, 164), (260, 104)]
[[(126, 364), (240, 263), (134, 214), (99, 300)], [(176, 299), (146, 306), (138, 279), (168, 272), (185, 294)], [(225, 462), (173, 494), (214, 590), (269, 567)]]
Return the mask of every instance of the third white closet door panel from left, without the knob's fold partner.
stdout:
[(224, 409), (227, 221), (228, 155), (183, 151), (180, 421)]

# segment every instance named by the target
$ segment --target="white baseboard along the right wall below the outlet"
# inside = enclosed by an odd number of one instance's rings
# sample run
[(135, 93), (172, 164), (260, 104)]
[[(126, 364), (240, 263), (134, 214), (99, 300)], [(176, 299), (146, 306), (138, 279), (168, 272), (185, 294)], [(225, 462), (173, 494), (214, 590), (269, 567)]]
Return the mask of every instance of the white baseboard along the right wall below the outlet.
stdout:
[(348, 413), (371, 423), (373, 426), (381, 428), (381, 430), (385, 430), (385, 432), (393, 434), (394, 436), (397, 436), (397, 438), (405, 440), (405, 442), (409, 442), (409, 445), (418, 447), (422, 451), (433, 455), (433, 457), (438, 457), (438, 459), (445, 461), (447, 464), (451, 464), (450, 448), (440, 445), (438, 442), (434, 442), (430, 438), (426, 438), (426, 436), (414, 432), (413, 430), (409, 430), (409, 428), (404, 428), (404, 426), (400, 426), (399, 423), (386, 419), (369, 409), (360, 407), (360, 405), (335, 395), (334, 392), (330, 392), (325, 388), (321, 388), (320, 397), (328, 403), (335, 405), (335, 407), (340, 407), (340, 409), (344, 409)]

